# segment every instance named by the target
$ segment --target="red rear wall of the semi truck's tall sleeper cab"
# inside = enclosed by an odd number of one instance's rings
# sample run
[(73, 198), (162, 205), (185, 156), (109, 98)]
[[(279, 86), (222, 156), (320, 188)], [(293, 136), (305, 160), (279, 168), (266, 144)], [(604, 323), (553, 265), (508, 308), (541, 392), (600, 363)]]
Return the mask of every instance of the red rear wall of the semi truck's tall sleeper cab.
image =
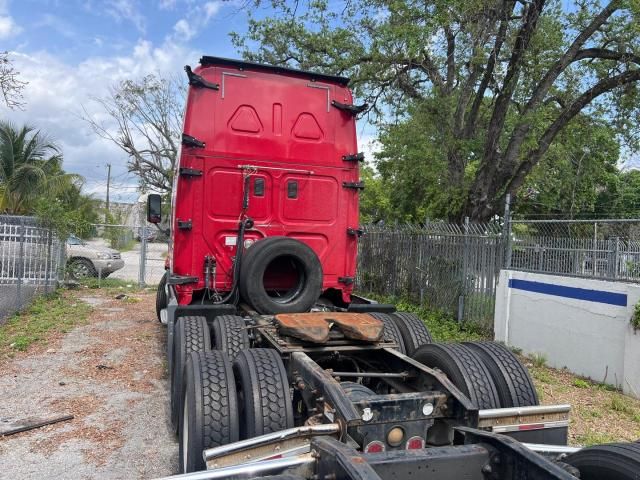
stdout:
[(183, 144), (176, 171), (172, 273), (197, 277), (176, 287), (179, 302), (205, 288), (207, 256), (216, 259), (215, 288), (231, 289), (245, 175), (255, 221), (245, 245), (274, 235), (306, 243), (323, 289), (348, 302), (358, 190), (345, 184), (359, 179), (358, 162), (343, 157), (357, 153), (356, 130), (353, 115), (332, 105), (352, 104), (347, 80), (213, 57), (194, 73), (218, 89), (189, 87), (184, 133), (205, 146)]

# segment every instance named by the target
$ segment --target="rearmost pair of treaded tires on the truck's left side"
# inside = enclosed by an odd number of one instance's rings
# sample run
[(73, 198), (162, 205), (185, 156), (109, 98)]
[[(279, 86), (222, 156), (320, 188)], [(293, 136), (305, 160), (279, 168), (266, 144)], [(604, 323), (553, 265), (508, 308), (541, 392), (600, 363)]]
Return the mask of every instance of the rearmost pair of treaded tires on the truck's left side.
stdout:
[(273, 349), (194, 352), (186, 363), (180, 469), (206, 468), (203, 450), (293, 427), (286, 370)]

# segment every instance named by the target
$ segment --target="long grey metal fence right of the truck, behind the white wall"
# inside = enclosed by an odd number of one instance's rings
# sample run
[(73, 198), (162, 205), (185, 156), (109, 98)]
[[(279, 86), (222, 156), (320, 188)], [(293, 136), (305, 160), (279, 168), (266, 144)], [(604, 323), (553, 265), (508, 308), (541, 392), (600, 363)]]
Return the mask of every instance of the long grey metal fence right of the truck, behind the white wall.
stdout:
[(640, 282), (640, 219), (367, 226), (358, 290), (491, 328), (502, 268)]

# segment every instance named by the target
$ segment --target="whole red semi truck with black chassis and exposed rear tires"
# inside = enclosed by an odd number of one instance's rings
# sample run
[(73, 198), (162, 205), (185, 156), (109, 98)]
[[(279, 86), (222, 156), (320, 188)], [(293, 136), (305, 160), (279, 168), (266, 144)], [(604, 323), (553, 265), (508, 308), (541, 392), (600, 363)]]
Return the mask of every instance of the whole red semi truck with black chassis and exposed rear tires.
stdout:
[(214, 57), (186, 72), (157, 296), (172, 478), (640, 478), (640, 444), (567, 447), (569, 406), (540, 406), (503, 345), (434, 343), (353, 293), (365, 107), (348, 79)]

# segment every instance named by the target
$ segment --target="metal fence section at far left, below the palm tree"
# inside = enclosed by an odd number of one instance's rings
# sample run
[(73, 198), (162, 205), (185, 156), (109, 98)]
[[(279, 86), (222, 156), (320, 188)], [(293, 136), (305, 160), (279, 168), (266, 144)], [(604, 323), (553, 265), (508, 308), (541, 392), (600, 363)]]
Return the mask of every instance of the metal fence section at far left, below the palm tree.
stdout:
[(35, 218), (0, 215), (0, 324), (64, 277), (64, 242)]

